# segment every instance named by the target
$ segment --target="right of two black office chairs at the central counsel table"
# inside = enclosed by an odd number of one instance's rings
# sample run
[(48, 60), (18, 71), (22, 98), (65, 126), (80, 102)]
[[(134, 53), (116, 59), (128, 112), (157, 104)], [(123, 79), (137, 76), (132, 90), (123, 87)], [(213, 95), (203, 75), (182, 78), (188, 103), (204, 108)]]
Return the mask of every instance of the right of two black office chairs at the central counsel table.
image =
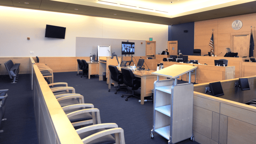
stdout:
[(123, 77), (124, 77), (124, 84), (128, 87), (132, 88), (132, 94), (122, 94), (121, 97), (124, 97), (124, 95), (128, 95), (128, 97), (125, 99), (125, 101), (128, 101), (129, 97), (137, 97), (140, 99), (140, 96), (134, 95), (134, 90), (137, 90), (141, 86), (141, 79), (136, 78), (132, 72), (131, 69), (127, 68), (121, 68)]

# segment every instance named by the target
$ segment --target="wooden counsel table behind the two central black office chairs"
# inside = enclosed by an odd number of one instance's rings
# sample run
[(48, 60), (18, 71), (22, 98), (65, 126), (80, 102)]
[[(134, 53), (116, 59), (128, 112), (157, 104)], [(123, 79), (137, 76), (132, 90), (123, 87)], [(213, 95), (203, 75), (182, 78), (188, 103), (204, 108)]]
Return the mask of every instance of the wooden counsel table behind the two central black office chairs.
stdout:
[[(129, 68), (129, 67), (126, 67)], [(119, 72), (121, 72), (121, 67), (118, 68)], [(154, 82), (157, 80), (157, 76), (151, 74), (152, 72), (155, 72), (154, 70), (146, 71), (146, 70), (133, 70), (132, 71), (134, 76), (141, 78), (141, 94), (140, 94), (140, 99), (141, 102), (140, 104), (144, 104), (144, 97), (151, 96), (152, 95), (152, 89), (154, 89)], [(111, 74), (110, 72), (108, 73), (108, 88), (111, 88)], [(160, 80), (166, 79), (166, 77), (160, 77)], [(114, 82), (114, 81), (113, 81)], [(115, 82), (117, 83), (117, 82)]]

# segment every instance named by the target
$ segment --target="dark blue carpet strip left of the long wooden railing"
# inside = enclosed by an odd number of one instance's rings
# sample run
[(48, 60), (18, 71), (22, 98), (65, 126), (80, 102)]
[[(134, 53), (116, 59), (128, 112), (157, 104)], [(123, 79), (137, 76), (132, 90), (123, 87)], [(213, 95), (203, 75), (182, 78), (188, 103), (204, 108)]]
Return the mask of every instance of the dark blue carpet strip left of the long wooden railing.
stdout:
[(9, 75), (0, 75), (0, 89), (9, 89), (0, 130), (0, 144), (38, 144), (29, 74), (20, 74), (11, 84)]

